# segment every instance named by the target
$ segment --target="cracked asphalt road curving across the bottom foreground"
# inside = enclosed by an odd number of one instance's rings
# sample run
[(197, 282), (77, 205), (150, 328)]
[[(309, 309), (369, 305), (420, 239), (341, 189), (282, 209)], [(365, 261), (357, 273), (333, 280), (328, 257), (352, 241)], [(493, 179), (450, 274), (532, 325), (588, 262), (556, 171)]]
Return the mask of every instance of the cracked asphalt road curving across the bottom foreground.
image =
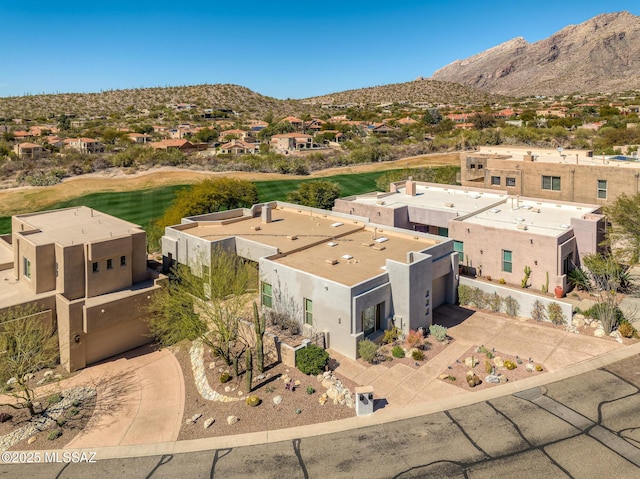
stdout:
[(0, 478), (640, 477), (640, 355), (472, 406), (235, 449), (0, 466)]

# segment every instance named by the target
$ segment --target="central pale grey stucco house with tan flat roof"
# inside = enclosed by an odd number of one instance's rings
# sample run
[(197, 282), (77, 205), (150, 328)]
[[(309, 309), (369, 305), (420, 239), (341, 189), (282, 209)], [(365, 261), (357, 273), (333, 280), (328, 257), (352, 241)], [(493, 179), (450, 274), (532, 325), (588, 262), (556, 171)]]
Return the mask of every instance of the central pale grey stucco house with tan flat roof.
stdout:
[(196, 274), (219, 248), (258, 263), (263, 307), (350, 358), (360, 340), (428, 327), (433, 308), (456, 300), (453, 241), (357, 216), (272, 202), (184, 218), (162, 238), (164, 266)]

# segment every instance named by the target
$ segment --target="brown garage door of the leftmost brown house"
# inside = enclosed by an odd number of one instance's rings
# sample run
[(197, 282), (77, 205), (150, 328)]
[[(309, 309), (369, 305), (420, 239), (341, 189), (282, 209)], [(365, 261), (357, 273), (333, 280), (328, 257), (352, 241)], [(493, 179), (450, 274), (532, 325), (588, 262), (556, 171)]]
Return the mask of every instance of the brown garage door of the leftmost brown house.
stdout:
[(85, 337), (87, 365), (151, 342), (149, 326), (142, 319), (123, 321)]

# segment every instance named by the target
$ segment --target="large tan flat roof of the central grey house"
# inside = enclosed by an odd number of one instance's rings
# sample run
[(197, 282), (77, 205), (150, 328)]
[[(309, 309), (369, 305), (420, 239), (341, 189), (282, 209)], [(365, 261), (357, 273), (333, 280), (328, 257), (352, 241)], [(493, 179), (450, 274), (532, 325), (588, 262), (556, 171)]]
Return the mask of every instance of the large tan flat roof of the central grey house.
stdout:
[(387, 259), (406, 263), (407, 253), (448, 240), (282, 205), (272, 209), (271, 218), (202, 221), (180, 230), (209, 241), (240, 237), (273, 246), (279, 255), (272, 261), (348, 286), (384, 274)]

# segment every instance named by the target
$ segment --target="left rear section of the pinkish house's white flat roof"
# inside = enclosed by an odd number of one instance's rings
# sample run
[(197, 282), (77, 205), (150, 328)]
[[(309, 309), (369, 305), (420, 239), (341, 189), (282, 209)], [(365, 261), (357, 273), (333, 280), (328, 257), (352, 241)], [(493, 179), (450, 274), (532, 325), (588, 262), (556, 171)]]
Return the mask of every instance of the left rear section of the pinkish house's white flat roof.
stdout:
[(415, 196), (407, 195), (406, 188), (400, 187), (397, 193), (387, 193), (379, 196), (362, 195), (343, 199), (381, 208), (416, 206), (430, 210), (457, 212), (458, 216), (465, 216), (479, 209), (488, 208), (507, 198), (506, 192), (480, 191), (464, 187), (416, 183)]

